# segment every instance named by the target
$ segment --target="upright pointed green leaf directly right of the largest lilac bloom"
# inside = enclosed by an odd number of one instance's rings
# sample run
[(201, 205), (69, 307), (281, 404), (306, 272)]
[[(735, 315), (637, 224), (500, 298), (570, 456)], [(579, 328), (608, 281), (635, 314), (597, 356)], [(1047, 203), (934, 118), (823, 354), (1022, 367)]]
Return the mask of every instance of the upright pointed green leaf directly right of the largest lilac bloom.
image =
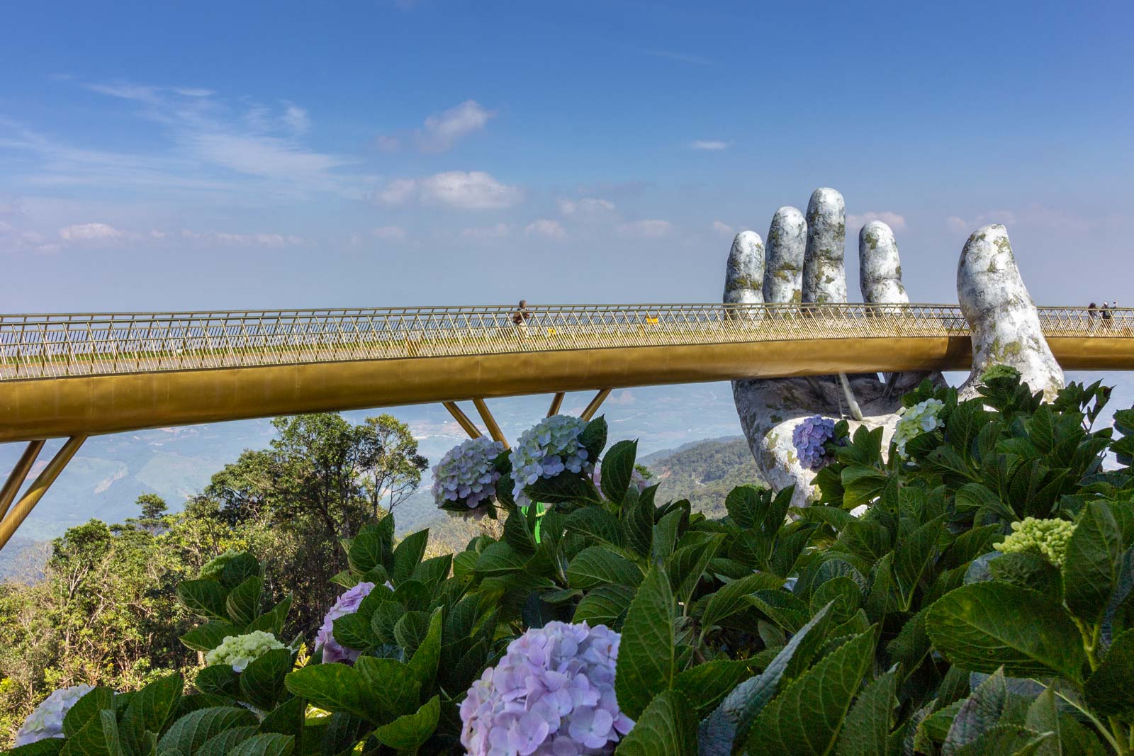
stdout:
[(654, 564), (631, 602), (618, 647), (615, 693), (618, 706), (637, 720), (654, 693), (668, 690), (677, 676), (677, 605), (666, 570)]

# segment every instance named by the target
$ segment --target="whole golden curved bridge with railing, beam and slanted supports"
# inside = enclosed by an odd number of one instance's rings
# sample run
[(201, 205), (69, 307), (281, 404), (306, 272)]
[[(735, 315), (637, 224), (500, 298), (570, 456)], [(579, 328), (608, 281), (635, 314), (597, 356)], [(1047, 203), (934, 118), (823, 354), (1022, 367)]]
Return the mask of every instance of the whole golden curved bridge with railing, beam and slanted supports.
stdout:
[[(83, 441), (169, 425), (832, 373), (967, 369), (953, 305), (561, 305), (0, 315), (0, 442), (26, 441), (0, 489), (0, 547)], [(1067, 369), (1134, 368), (1134, 309), (1040, 307)], [(16, 494), (45, 439), (66, 438)], [(16, 506), (11, 507), (16, 501)], [(10, 508), (10, 511), (9, 511)]]

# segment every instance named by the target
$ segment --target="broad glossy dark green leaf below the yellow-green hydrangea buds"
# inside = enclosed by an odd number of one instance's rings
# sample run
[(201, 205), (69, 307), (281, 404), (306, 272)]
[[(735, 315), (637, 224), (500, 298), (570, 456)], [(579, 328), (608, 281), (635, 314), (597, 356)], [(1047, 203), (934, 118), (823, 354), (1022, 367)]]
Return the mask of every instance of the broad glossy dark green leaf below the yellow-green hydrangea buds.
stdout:
[(1013, 677), (1082, 677), (1086, 661), (1066, 610), (1035, 591), (973, 583), (949, 592), (925, 620), (933, 645), (964, 669)]

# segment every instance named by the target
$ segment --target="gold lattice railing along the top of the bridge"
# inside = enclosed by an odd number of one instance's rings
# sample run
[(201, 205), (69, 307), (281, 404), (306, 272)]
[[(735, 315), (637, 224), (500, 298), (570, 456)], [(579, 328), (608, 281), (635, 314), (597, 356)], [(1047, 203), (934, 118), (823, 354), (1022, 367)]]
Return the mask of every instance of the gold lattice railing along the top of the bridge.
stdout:
[[(955, 305), (556, 305), (0, 315), (0, 380), (745, 341), (949, 337)], [(1134, 309), (1041, 307), (1049, 337), (1134, 338)]]

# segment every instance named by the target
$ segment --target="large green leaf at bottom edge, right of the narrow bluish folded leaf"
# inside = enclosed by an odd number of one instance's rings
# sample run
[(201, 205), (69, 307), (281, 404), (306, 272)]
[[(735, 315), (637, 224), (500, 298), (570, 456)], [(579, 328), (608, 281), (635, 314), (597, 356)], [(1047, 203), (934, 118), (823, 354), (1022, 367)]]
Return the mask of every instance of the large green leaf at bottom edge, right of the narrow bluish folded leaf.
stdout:
[(874, 657), (874, 632), (831, 652), (772, 698), (748, 736), (752, 756), (828, 754)]

